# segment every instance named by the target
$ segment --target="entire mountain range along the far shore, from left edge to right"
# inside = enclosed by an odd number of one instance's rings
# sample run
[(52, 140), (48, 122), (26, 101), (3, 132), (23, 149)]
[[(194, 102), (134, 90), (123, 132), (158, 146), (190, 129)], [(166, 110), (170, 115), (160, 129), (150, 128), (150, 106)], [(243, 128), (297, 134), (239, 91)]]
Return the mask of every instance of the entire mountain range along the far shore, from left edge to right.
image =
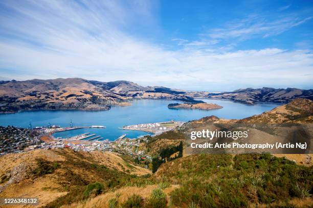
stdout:
[(80, 78), (28, 81), (0, 81), (0, 112), (18, 110), (108, 110), (113, 105), (129, 105), (131, 99), (171, 99), (203, 102), (194, 98), (216, 98), (239, 101), (285, 103), (295, 98), (313, 99), (313, 90), (296, 88), (239, 89), (210, 93), (186, 91), (162, 86), (143, 87), (128, 81), (99, 82)]

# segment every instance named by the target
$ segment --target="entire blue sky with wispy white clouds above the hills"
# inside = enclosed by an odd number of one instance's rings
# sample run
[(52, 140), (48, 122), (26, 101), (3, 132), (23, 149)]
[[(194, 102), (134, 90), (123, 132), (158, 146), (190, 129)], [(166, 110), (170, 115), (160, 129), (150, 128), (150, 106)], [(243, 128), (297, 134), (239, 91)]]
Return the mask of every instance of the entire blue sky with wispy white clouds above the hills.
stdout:
[(1, 1), (0, 80), (313, 88), (312, 1)]

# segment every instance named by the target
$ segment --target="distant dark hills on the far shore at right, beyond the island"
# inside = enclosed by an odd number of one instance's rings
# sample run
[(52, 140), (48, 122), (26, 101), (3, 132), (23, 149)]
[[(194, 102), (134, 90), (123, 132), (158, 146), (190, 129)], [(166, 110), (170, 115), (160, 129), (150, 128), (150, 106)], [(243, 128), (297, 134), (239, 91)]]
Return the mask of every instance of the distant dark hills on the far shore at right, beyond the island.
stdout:
[(307, 98), (313, 100), (313, 90), (301, 90), (297, 88), (275, 89), (263, 87), (260, 89), (239, 89), (233, 92), (209, 93), (209, 98), (230, 99), (253, 105), (256, 102), (286, 103), (295, 98)]

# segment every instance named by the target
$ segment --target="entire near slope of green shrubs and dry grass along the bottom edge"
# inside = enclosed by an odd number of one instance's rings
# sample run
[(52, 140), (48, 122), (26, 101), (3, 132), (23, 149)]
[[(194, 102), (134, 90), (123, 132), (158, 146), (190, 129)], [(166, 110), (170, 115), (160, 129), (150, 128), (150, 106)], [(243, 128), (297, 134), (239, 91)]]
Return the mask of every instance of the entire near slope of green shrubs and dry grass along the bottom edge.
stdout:
[[(42, 164), (42, 161), (40, 162)], [(313, 168), (271, 154), (199, 154), (163, 163), (153, 175), (136, 176), (79, 162), (100, 180), (76, 176), (69, 193), (46, 207), (311, 207)], [(79, 165), (76, 164), (76, 165)], [(60, 165), (54, 168), (56, 171)], [(54, 166), (56, 166), (54, 164)], [(45, 165), (44, 167), (54, 167)], [(46, 173), (44, 171), (39, 171)], [(49, 173), (49, 171), (47, 172)], [(72, 181), (72, 184), (73, 183)], [(169, 187), (175, 186), (170, 192)], [(135, 191), (144, 189), (148, 191)], [(125, 191), (127, 189), (127, 191)], [(124, 191), (123, 191), (124, 190)], [(148, 192), (148, 193), (143, 193)], [(109, 194), (111, 193), (111, 194)], [(109, 194), (109, 195), (107, 195)], [(95, 198), (95, 200), (93, 200)], [(293, 201), (305, 200), (296, 206)], [(105, 204), (105, 206), (104, 206)], [(298, 204), (299, 205), (299, 204)]]

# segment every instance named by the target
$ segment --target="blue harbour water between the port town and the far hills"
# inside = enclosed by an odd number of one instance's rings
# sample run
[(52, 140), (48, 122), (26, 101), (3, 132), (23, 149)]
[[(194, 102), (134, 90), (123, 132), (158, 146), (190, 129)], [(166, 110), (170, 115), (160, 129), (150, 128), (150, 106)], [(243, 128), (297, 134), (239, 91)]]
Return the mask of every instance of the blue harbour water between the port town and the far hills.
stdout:
[(74, 126), (104, 125), (106, 128), (86, 128), (75, 131), (60, 132), (54, 134), (55, 137), (72, 137), (83, 133), (97, 134), (105, 139), (115, 140), (119, 136), (126, 134), (129, 138), (136, 138), (147, 133), (141, 131), (127, 131), (119, 129), (125, 125), (138, 123), (152, 123), (169, 120), (189, 121), (205, 116), (215, 115), (220, 118), (238, 119), (245, 118), (264, 111), (271, 110), (278, 105), (259, 103), (255, 106), (244, 105), (228, 100), (201, 99), (205, 102), (213, 102), (222, 109), (186, 110), (169, 109), (169, 103), (177, 102), (171, 100), (134, 100), (131, 106), (111, 107), (108, 111), (21, 111), (14, 114), (1, 114), (0, 125), (13, 125), (18, 127), (47, 126), (56, 124), (69, 126), (72, 119)]

